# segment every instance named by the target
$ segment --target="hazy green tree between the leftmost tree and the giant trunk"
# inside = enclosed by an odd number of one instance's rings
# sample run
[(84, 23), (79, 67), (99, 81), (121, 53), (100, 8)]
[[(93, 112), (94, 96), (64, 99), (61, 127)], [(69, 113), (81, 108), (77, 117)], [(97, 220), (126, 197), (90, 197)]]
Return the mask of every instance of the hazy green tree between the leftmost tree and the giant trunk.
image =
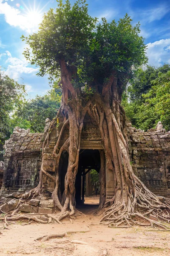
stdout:
[(61, 91), (53, 88), (45, 96), (36, 96), (27, 100), (14, 112), (12, 126), (30, 128), (31, 132), (43, 132), (45, 119), (53, 119), (57, 115), (61, 102)]

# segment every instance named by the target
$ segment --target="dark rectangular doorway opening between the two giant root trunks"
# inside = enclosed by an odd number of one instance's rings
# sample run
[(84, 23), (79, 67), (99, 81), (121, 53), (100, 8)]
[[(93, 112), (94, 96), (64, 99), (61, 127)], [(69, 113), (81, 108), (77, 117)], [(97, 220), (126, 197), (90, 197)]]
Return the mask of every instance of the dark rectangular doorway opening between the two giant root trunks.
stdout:
[[(81, 149), (76, 176), (76, 205), (78, 208), (99, 206), (99, 172), (101, 167), (100, 153), (97, 149)], [(93, 187), (92, 176), (98, 176), (98, 184)], [(88, 191), (87, 191), (88, 190)], [(90, 191), (89, 191), (90, 190)], [(86, 197), (85, 197), (86, 195)], [(90, 198), (94, 195), (94, 198)]]

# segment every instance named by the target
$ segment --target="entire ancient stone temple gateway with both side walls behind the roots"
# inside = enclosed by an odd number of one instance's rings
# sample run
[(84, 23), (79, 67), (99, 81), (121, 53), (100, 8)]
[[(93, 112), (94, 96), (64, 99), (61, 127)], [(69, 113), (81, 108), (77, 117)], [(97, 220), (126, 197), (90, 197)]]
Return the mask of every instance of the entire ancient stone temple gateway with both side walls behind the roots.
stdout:
[[(39, 182), (39, 172), (42, 158), (42, 144), (47, 134), (50, 120), (46, 119), (44, 133), (31, 134), (30, 130), (19, 127), (14, 129), (11, 138), (6, 141), (4, 163), (0, 165), (0, 195), (7, 195), (12, 192), (25, 192), (34, 188)], [(59, 119), (57, 130), (62, 125)], [(52, 156), (58, 131), (51, 132), (51, 140), (48, 148), (44, 151), (44, 169), (50, 175), (55, 175), (55, 159)], [(131, 164), (137, 177), (156, 195), (170, 198), (170, 131), (166, 132), (161, 123), (156, 129), (143, 132), (127, 126), (129, 138), (129, 151)], [(69, 137), (69, 130), (65, 131), (61, 145)], [(82, 136), (81, 150), (79, 153), (79, 168), (76, 177), (76, 202), (82, 201), (84, 196), (84, 177), (89, 170), (101, 169), (101, 157), (104, 157), (103, 147), (99, 130), (96, 123), (86, 114)], [(61, 179), (61, 193), (64, 191), (64, 178), (68, 166), (68, 153), (64, 151), (59, 163)], [(105, 163), (105, 177), (100, 180), (105, 183), (106, 200), (114, 195), (113, 172), (107, 169)], [(54, 190), (54, 180), (43, 175), (42, 192), (45, 198), (50, 198)]]

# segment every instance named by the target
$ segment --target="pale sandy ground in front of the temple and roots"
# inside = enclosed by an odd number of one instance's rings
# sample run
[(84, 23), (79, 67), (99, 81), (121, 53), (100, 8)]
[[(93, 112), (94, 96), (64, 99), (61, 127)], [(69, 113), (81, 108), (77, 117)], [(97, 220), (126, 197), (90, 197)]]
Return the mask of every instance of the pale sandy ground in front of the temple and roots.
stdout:
[[(109, 228), (103, 225), (90, 225), (98, 222), (100, 216), (91, 215), (98, 198), (86, 198), (91, 207), (81, 207), (85, 215), (61, 224), (32, 223), (23, 226), (16, 221), (10, 230), (1, 230), (0, 256), (170, 256), (170, 232), (133, 227), (128, 229)], [(87, 226), (90, 231), (85, 233)], [(78, 230), (60, 239), (36, 241), (44, 235), (60, 233), (66, 230)]]

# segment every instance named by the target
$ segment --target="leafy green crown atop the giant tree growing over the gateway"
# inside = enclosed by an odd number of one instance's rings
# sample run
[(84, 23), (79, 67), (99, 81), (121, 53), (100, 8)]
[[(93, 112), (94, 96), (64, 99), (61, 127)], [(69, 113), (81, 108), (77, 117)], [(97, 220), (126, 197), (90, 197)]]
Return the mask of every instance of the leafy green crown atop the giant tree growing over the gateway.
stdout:
[(24, 55), (31, 64), (40, 66), (39, 76), (48, 74), (51, 80), (58, 78), (64, 59), (74, 87), (88, 93), (93, 92), (96, 82), (103, 84), (116, 72), (122, 92), (132, 66), (147, 61), (139, 23), (132, 26), (126, 14), (118, 23), (102, 18), (98, 24), (97, 18), (88, 15), (87, 6), (85, 0), (72, 7), (69, 0), (65, 4), (59, 0), (56, 11), (50, 9), (44, 15), (37, 33), (22, 36), (31, 48), (26, 48)]

